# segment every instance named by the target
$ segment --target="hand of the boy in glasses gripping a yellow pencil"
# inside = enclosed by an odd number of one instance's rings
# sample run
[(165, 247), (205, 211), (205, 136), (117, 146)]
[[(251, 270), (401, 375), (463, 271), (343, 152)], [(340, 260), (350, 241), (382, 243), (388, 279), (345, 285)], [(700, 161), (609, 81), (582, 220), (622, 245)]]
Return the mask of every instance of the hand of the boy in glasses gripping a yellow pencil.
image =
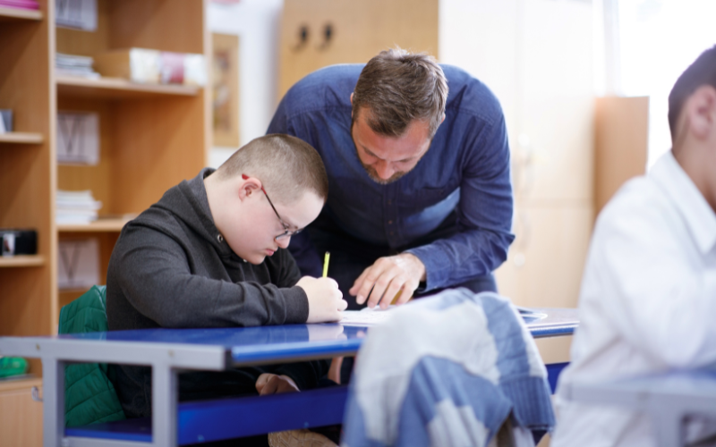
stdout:
[(341, 312), (348, 307), (338, 283), (331, 278), (311, 278), (303, 276), (296, 283), (308, 296), (308, 320), (306, 323), (324, 323), (340, 321)]

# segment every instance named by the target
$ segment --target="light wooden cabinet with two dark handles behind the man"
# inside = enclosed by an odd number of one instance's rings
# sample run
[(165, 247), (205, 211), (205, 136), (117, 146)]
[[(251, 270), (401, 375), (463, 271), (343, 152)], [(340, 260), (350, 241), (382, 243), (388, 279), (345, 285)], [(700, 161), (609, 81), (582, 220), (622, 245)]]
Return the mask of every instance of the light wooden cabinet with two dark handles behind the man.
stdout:
[(438, 0), (286, 0), (280, 41), (279, 98), (311, 72), (389, 47), (437, 55)]

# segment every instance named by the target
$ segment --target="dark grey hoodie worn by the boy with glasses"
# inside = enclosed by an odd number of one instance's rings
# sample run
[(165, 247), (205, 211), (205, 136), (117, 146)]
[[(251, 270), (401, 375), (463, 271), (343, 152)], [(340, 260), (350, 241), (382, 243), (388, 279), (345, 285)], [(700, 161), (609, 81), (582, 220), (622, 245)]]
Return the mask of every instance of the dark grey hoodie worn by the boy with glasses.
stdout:
[[(110, 331), (306, 322), (308, 298), (294, 286), (301, 274), (288, 250), (278, 249), (254, 266), (220, 236), (203, 182), (213, 172), (204, 169), (167, 190), (124, 226), (107, 270)], [(255, 392), (263, 372), (312, 388), (328, 372), (328, 362), (183, 374), (180, 400)], [(149, 416), (149, 367), (116, 367), (115, 385), (127, 417)]]

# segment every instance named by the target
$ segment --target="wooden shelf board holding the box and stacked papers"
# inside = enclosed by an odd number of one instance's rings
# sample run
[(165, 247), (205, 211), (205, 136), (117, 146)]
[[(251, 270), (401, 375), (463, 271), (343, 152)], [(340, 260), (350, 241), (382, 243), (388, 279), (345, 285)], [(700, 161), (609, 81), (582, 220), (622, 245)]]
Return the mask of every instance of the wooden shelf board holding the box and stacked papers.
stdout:
[(180, 96), (195, 97), (199, 87), (182, 85), (139, 84), (120, 78), (99, 78), (98, 80), (72, 76), (57, 76), (57, 94), (65, 97), (101, 97), (124, 99), (137, 97)]

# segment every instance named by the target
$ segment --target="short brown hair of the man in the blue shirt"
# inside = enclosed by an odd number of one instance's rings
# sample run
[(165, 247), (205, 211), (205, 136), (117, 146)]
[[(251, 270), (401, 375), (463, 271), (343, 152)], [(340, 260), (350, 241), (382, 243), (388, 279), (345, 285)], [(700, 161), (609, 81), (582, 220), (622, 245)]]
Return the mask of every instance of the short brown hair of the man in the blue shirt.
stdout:
[(353, 122), (363, 110), (371, 130), (400, 137), (415, 120), (430, 123), (430, 138), (445, 116), (447, 79), (430, 55), (381, 51), (361, 72), (353, 94)]

